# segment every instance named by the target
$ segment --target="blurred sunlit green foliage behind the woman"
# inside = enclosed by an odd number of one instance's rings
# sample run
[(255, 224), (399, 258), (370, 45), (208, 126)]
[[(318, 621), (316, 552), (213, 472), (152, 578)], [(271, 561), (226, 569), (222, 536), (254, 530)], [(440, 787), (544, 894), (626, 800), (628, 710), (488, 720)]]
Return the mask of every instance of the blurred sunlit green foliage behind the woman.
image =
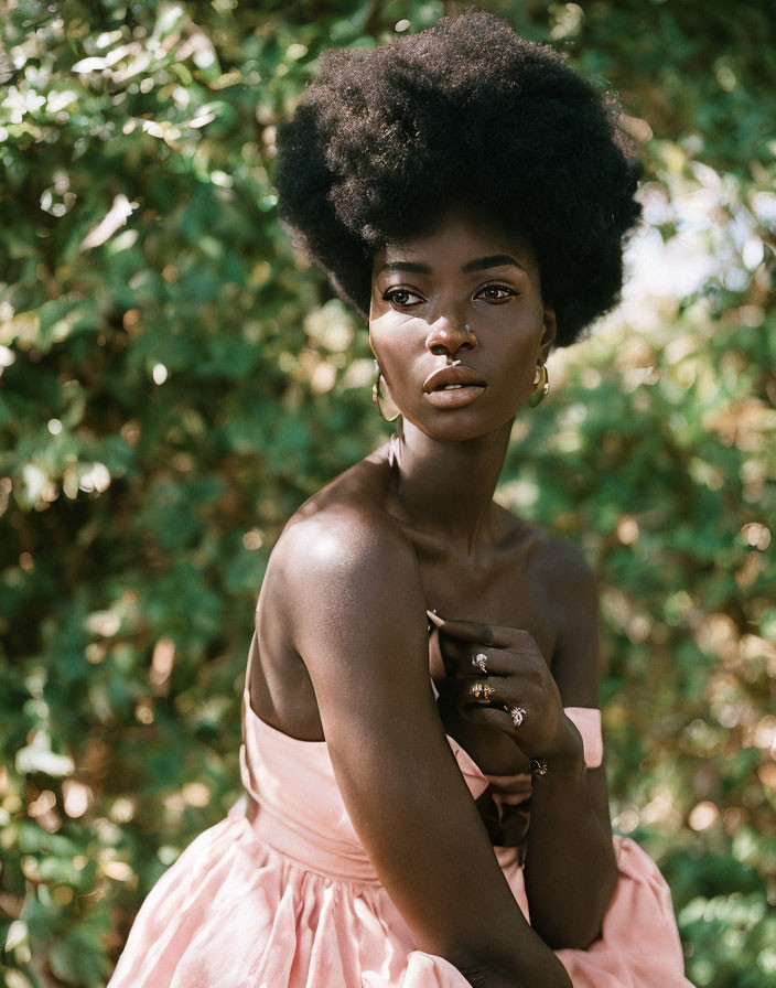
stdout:
[[(550, 361), (499, 488), (602, 600), (615, 827), (698, 986), (776, 982), (776, 19), (481, 2), (621, 94), (646, 167), (622, 307)], [(239, 794), (288, 516), (384, 440), (367, 335), (274, 212), (332, 45), (435, 2), (0, 0), (0, 982), (104, 986)]]

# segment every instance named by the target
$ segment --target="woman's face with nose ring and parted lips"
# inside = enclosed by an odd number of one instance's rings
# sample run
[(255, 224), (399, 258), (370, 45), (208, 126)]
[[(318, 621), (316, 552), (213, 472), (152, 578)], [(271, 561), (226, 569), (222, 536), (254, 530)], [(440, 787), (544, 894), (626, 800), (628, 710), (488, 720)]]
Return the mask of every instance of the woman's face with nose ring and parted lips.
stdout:
[(375, 257), (371, 348), (401, 414), (433, 439), (511, 421), (554, 335), (530, 245), (492, 223), (451, 212)]

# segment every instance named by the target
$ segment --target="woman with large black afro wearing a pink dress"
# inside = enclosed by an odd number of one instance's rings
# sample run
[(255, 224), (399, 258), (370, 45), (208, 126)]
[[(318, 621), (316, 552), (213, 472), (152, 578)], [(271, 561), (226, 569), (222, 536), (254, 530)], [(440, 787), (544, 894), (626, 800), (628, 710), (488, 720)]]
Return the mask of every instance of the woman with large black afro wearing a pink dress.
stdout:
[(493, 501), (552, 346), (619, 289), (636, 173), (614, 108), (489, 14), (324, 61), (281, 216), (368, 318), (402, 426), (278, 541), (247, 799), (111, 986), (687, 985), (662, 879), (611, 835), (591, 574)]

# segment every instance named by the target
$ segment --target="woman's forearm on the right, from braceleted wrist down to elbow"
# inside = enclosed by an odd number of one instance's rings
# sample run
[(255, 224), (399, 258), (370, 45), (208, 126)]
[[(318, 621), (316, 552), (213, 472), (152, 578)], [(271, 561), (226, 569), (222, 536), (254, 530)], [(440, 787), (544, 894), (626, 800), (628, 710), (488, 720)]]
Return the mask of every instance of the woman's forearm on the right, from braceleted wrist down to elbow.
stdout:
[(601, 933), (617, 882), (611, 835), (592, 804), (584, 760), (548, 760), (535, 778), (525, 882), (531, 925), (554, 949)]

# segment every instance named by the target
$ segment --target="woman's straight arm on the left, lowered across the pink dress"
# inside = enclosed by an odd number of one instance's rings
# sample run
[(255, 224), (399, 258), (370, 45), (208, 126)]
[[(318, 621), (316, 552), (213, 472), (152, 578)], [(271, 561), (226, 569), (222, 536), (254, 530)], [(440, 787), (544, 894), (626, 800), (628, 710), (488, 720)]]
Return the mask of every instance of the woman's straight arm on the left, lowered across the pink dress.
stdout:
[(281, 557), (281, 599), (345, 805), (418, 946), (482, 988), (569, 988), (509, 891), (444, 737), (409, 547), (351, 512), (293, 526)]

